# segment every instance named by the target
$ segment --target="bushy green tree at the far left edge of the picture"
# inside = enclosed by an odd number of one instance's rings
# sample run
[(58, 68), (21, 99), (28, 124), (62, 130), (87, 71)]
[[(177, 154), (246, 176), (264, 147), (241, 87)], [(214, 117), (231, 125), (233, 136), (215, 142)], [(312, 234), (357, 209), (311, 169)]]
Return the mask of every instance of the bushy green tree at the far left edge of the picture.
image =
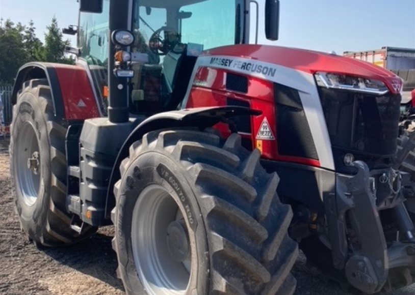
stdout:
[(10, 19), (0, 21), (0, 81), (13, 83), (18, 69), (30, 61), (24, 47), (24, 29), (21, 23)]

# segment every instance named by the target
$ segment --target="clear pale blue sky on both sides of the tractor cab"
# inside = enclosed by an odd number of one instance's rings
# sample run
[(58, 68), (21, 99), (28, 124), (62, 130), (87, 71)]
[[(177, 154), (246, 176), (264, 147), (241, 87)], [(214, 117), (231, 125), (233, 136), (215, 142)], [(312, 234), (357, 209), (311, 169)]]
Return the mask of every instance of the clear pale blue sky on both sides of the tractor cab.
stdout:
[[(318, 51), (365, 51), (383, 46), (415, 48), (415, 0), (280, 0), (276, 45)], [(0, 0), (0, 18), (27, 24), (43, 40), (55, 15), (59, 25), (77, 23), (76, 0)], [(69, 36), (68, 36), (69, 38)], [(69, 38), (75, 46), (75, 39)]]

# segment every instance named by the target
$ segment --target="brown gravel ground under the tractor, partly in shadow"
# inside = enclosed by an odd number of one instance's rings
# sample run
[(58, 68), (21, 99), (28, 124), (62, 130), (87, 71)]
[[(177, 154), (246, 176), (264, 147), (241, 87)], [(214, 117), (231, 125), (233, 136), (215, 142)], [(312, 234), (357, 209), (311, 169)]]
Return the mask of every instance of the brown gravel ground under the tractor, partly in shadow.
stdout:
[[(10, 194), (8, 141), (0, 139), (0, 294), (124, 294), (111, 248), (113, 227), (65, 248), (37, 248), (20, 231)], [(293, 271), (296, 295), (347, 295), (300, 254)], [(415, 294), (415, 287), (393, 295)], [(392, 294), (391, 294), (392, 295)]]

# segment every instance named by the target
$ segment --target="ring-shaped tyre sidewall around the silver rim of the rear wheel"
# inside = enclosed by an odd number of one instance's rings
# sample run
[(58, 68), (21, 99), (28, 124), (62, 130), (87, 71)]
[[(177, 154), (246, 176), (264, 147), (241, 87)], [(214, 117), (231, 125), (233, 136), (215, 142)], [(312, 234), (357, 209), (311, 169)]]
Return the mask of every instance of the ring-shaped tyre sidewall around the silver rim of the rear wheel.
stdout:
[[(15, 177), (20, 167), (16, 166), (16, 156), (18, 147), (22, 143), (18, 142), (19, 133), (24, 124), (31, 124), (39, 144), (40, 154), (40, 185), (36, 202), (29, 206), (23, 198), (23, 194)], [(50, 146), (47, 134), (47, 127), (42, 111), (41, 99), (36, 97), (30, 91), (24, 92), (18, 98), (13, 117), (13, 128), (10, 141), (10, 159), (11, 159), (11, 178), (12, 187), (15, 190), (14, 197), (17, 213), (23, 230), (28, 232), (31, 238), (37, 237), (41, 231), (41, 225), (46, 222), (47, 211), (49, 207), (50, 195)]]

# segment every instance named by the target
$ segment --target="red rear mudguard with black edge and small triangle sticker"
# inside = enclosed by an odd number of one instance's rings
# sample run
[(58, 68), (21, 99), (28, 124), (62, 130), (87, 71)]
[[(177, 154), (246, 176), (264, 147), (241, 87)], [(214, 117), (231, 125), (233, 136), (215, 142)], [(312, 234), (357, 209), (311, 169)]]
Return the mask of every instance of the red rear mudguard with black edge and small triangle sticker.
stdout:
[(96, 98), (87, 70), (81, 66), (29, 63), (19, 69), (14, 83), (12, 103), (25, 81), (46, 78), (54, 104), (55, 116), (64, 120), (99, 117)]

